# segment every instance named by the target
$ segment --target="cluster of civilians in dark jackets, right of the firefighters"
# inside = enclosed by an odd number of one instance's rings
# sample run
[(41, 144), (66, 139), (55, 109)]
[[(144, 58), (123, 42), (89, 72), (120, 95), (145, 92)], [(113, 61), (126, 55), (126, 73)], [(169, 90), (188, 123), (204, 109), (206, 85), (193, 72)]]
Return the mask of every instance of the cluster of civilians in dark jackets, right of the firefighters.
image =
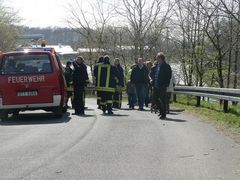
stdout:
[[(165, 61), (163, 53), (158, 53), (154, 65), (143, 62), (142, 58), (131, 68), (130, 80), (127, 83), (129, 108), (134, 109), (136, 102), (139, 110), (144, 110), (144, 105), (158, 109), (160, 119), (165, 119), (169, 112), (171, 97), (170, 86), (174, 84), (172, 69)], [(137, 99), (137, 100), (136, 100)]]

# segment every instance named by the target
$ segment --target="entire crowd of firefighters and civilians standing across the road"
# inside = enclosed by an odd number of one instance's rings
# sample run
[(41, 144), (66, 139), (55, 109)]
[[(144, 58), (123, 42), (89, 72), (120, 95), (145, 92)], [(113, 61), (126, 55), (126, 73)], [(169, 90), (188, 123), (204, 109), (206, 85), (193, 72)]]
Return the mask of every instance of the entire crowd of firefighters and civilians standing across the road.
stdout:
[[(75, 114), (83, 115), (84, 89), (89, 82), (87, 67), (81, 56), (78, 56), (72, 64), (73, 69), (71, 62), (67, 63), (65, 77), (68, 88), (73, 89), (72, 106)], [(136, 64), (131, 67), (130, 73), (130, 80), (126, 84), (129, 108), (134, 109), (138, 104), (139, 110), (142, 111), (144, 105), (148, 106), (151, 102), (151, 107), (159, 110), (160, 119), (165, 119), (169, 111), (170, 93), (167, 92), (167, 88), (173, 84), (171, 83), (173, 78), (171, 67), (166, 63), (164, 54), (157, 54), (154, 65), (151, 62), (144, 63), (142, 58), (138, 58)], [(125, 79), (119, 59), (114, 59), (114, 63), (111, 64), (109, 56), (100, 57), (94, 66), (93, 75), (98, 108), (104, 114), (113, 114), (112, 108), (121, 108)], [(71, 96), (69, 90), (68, 97)]]

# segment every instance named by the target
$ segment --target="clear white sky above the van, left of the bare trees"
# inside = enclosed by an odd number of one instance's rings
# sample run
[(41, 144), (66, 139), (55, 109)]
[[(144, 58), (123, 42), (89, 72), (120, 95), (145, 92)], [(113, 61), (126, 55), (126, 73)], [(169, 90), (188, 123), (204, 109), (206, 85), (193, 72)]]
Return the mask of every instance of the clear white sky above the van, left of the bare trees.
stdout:
[(66, 5), (70, 0), (4, 0), (22, 18), (21, 25), (29, 27), (67, 27)]

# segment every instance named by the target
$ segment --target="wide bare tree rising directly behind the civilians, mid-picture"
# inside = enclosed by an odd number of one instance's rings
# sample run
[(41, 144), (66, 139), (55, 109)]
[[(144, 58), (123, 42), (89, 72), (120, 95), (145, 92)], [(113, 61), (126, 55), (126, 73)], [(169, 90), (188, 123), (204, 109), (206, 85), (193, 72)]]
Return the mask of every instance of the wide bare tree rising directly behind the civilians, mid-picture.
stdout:
[(135, 47), (135, 59), (143, 57), (147, 34), (154, 23), (158, 22), (159, 26), (164, 28), (173, 4), (170, 0), (122, 0), (122, 2), (124, 7), (117, 7), (116, 11), (127, 19)]

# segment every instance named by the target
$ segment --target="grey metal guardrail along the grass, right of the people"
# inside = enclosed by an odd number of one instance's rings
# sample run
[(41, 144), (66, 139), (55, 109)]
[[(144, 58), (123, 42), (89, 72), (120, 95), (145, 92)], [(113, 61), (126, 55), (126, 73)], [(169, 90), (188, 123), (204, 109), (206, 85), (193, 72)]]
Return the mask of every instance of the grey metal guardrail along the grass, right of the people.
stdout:
[(175, 100), (176, 100), (176, 94), (187, 94), (187, 95), (196, 96), (197, 107), (200, 106), (201, 97), (208, 97), (212, 99), (223, 100), (224, 112), (228, 112), (229, 101), (240, 103), (240, 89), (175, 86), (174, 87)]

